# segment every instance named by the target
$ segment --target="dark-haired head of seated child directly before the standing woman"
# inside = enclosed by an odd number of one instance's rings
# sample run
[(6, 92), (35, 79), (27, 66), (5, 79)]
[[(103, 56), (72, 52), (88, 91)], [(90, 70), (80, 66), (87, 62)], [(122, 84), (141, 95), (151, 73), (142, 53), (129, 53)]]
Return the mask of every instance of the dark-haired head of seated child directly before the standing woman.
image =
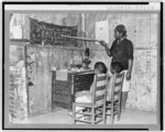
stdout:
[(122, 70), (123, 70), (123, 66), (121, 63), (119, 63), (119, 62), (112, 62), (111, 63), (111, 73), (112, 74), (116, 74), (116, 73), (119, 74)]

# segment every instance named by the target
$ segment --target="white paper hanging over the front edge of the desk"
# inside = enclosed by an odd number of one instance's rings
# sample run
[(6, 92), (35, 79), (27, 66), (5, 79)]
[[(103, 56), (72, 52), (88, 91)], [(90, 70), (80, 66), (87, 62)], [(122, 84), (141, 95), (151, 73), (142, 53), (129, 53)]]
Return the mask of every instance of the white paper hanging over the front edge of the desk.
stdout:
[(67, 69), (57, 70), (56, 80), (67, 80)]

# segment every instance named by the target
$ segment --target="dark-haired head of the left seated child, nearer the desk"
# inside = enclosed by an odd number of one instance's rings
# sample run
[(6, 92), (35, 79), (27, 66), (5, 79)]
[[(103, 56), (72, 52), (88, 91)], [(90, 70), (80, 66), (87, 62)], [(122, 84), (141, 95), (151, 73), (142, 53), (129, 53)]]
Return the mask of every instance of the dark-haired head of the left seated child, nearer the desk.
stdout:
[(105, 63), (102, 62), (97, 62), (95, 64), (95, 74), (107, 74), (107, 67), (105, 65)]

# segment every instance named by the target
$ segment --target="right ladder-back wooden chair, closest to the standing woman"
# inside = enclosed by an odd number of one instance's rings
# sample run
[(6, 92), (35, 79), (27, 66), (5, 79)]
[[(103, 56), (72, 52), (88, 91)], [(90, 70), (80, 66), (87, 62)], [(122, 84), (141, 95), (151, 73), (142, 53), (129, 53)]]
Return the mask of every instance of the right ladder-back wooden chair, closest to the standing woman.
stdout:
[(121, 74), (114, 74), (112, 76), (112, 90), (110, 94), (111, 98), (106, 102), (106, 116), (111, 116), (111, 123), (113, 123), (116, 114), (118, 116), (118, 121), (120, 120), (123, 78), (123, 72)]

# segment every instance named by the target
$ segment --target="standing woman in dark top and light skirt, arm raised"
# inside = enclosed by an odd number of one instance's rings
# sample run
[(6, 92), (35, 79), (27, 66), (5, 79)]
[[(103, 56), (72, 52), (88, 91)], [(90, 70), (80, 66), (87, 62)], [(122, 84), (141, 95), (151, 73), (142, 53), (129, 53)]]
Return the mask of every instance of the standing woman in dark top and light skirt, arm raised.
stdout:
[(123, 24), (116, 26), (114, 38), (110, 48), (105, 41), (99, 41), (99, 43), (105, 47), (108, 56), (112, 57), (112, 63), (119, 62), (123, 66), (125, 77), (122, 88), (122, 110), (124, 110), (128, 92), (130, 91), (130, 79), (133, 66), (133, 44), (127, 38), (127, 29)]

